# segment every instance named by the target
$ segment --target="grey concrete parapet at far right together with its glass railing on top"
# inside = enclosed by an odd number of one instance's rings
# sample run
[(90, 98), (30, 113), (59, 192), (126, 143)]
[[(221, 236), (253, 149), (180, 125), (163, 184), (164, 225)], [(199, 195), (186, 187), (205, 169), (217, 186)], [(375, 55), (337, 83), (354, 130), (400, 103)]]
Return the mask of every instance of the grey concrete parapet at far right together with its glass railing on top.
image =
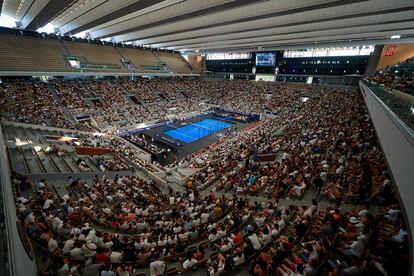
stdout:
[[(408, 222), (410, 256), (413, 256), (414, 237), (414, 132), (407, 116), (409, 105), (383, 88), (360, 82), (380, 145), (385, 154), (403, 214)], [(414, 275), (413, 262), (410, 275)]]

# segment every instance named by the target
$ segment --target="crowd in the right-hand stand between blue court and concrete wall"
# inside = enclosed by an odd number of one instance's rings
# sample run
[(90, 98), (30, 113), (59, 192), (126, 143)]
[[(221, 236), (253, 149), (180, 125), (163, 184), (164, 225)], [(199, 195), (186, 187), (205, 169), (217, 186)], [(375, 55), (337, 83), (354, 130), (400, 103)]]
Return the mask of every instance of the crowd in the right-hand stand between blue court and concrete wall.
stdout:
[[(335, 90), (313, 95), (306, 102), (297, 95), (300, 109), (292, 104), (291, 112), (187, 158), (198, 169), (195, 184), (206, 188), (219, 180), (225, 190), (295, 199), (313, 187), (333, 202), (379, 200), (390, 176), (361, 96)], [(282, 127), (286, 134), (276, 135)], [(263, 154), (280, 158), (260, 164)]]

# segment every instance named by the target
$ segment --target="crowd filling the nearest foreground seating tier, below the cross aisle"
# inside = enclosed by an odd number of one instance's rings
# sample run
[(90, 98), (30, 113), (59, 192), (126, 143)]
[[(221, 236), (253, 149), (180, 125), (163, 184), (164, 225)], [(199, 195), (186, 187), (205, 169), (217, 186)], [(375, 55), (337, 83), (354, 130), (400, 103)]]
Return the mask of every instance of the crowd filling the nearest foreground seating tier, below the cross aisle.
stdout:
[[(282, 206), (247, 198), (162, 193), (131, 176), (66, 180), (64, 194), (14, 175), (23, 228), (42, 257), (42, 275), (151, 275), (205, 269), (222, 275), (406, 275), (408, 234), (397, 204)], [(33, 190), (33, 197), (21, 192)], [(27, 194), (27, 192), (26, 192)], [(99, 229), (99, 230), (98, 230)]]

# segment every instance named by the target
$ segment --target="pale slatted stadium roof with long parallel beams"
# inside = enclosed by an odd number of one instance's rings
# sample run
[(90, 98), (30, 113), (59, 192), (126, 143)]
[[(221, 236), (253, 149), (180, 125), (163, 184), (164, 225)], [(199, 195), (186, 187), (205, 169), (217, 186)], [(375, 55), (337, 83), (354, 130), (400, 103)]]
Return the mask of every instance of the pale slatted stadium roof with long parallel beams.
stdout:
[(21, 28), (181, 51), (414, 37), (413, 0), (0, 0)]

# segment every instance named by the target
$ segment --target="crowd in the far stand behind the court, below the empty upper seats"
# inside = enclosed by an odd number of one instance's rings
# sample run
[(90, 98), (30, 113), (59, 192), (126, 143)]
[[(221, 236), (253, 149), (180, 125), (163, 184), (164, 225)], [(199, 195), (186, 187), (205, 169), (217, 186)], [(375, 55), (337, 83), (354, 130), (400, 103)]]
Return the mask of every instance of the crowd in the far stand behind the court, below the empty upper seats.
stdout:
[[(66, 108), (73, 116), (90, 115), (100, 129), (113, 129), (203, 112), (211, 105), (245, 113), (283, 112), (289, 97), (304, 94), (299, 89), (297, 94), (291, 93), (286, 85), (273, 83), (182, 78), (53, 80), (51, 87), (53, 90), (42, 82), (8, 81), (2, 85), (2, 114), (18, 121), (74, 128), (63, 115)], [(59, 104), (53, 93), (59, 97)], [(25, 108), (20, 108), (17, 96), (19, 100), (27, 97)], [(35, 96), (39, 100), (33, 101)], [(29, 109), (36, 112), (28, 116)]]

